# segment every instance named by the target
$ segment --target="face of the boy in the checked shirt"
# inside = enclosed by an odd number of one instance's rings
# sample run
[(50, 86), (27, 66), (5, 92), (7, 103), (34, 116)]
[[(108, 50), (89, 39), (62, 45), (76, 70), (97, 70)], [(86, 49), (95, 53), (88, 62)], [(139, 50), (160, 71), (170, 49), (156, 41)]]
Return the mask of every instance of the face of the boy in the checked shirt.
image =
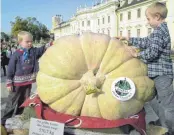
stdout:
[(148, 24), (152, 28), (156, 28), (160, 23), (159, 23), (159, 17), (158, 16), (153, 16), (148, 10), (146, 10), (146, 18), (148, 21)]

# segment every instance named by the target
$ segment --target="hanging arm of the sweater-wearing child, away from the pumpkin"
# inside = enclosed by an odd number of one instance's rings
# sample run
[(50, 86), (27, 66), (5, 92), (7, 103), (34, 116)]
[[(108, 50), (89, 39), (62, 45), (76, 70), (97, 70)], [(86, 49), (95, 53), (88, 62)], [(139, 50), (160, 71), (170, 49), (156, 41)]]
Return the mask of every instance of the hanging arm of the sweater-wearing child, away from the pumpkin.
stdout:
[(7, 87), (13, 86), (13, 78), (16, 71), (16, 63), (17, 63), (17, 57), (15, 54), (13, 54), (10, 58), (10, 61), (7, 67), (7, 82), (6, 82)]

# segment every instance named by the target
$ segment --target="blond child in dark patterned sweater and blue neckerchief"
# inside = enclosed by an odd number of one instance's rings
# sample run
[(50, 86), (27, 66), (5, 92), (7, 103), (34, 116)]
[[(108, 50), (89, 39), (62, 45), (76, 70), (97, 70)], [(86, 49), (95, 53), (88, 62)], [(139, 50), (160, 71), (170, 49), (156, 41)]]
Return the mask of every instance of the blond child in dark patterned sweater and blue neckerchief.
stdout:
[(7, 70), (7, 89), (9, 96), (4, 115), (1, 118), (5, 124), (7, 118), (22, 113), (18, 108), (30, 96), (32, 83), (35, 82), (38, 71), (38, 59), (45, 52), (47, 46), (36, 48), (32, 46), (33, 36), (26, 31), (18, 34), (20, 48), (11, 56)]

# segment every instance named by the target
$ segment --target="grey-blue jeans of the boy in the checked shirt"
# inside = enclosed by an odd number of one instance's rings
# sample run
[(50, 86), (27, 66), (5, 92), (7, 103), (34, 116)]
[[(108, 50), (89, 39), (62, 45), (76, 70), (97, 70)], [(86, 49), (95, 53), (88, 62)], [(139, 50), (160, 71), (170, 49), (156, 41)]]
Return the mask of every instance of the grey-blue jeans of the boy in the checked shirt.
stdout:
[(157, 76), (153, 78), (156, 88), (156, 97), (149, 102), (159, 117), (161, 126), (174, 131), (174, 89), (173, 78)]

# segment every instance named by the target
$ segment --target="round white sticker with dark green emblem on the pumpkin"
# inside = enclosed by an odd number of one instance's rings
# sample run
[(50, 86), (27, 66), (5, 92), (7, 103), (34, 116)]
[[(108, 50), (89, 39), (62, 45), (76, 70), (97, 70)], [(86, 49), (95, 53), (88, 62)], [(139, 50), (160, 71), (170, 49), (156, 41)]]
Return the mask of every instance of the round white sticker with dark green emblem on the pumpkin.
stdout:
[(120, 77), (113, 81), (112, 95), (121, 101), (127, 101), (135, 95), (135, 84), (127, 77)]

